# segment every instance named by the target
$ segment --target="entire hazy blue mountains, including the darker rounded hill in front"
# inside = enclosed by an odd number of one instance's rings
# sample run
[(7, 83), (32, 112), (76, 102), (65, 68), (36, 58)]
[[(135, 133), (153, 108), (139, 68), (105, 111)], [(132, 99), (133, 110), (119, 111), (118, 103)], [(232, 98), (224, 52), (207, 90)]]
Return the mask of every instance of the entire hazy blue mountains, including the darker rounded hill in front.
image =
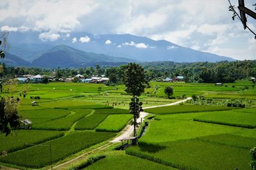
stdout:
[[(46, 41), (47, 40), (47, 41)], [(54, 41), (53, 41), (54, 40)], [(80, 67), (95, 64), (115, 66), (126, 62), (171, 60), (173, 62), (216, 62), (234, 60), (200, 52), (169, 41), (154, 41), (131, 34), (92, 35), (72, 32), (56, 37), (38, 36), (38, 32), (10, 32), (8, 53), (24, 61), (11, 66)], [(8, 55), (4, 61), (6, 62)]]

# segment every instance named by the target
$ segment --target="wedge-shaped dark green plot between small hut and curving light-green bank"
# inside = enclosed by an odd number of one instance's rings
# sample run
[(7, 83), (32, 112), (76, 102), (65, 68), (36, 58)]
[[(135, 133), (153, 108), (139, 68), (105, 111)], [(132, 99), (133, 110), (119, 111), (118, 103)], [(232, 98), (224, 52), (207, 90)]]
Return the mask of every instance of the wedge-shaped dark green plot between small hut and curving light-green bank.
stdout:
[(80, 112), (70, 114), (67, 117), (59, 118), (49, 122), (44, 122), (41, 124), (32, 124), (32, 128), (42, 130), (67, 131), (75, 122), (77, 122), (77, 120), (85, 117), (91, 112), (92, 110), (82, 110)]

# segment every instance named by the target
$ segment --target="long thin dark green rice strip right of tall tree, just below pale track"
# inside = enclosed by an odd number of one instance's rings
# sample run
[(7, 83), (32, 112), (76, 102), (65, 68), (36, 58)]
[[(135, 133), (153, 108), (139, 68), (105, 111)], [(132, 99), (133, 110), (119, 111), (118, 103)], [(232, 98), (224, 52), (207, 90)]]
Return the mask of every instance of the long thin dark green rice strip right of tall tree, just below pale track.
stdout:
[(219, 111), (232, 110), (232, 108), (224, 106), (198, 106), (198, 105), (179, 105), (179, 106), (164, 106), (159, 108), (145, 109), (145, 112), (156, 115), (175, 114), (175, 113), (191, 113), (200, 111)]

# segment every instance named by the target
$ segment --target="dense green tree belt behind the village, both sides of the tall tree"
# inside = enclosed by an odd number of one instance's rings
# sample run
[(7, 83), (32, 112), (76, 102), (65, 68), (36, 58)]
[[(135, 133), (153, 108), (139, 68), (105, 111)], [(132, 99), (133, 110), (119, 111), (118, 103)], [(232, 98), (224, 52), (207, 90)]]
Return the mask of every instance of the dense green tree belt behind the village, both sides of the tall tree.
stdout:
[[(186, 82), (228, 83), (256, 76), (256, 60), (192, 63), (163, 61), (141, 62), (140, 64), (147, 71), (147, 79), (156, 81), (161, 81), (166, 77), (184, 76)], [(42, 69), (37, 67), (7, 67), (2, 64), (0, 77), (20, 77), (24, 74), (52, 76), (54, 74), (56, 78), (67, 78), (78, 73), (85, 77), (104, 74), (109, 77), (112, 83), (122, 83), (124, 67), (125, 65), (116, 67), (96, 65), (95, 67)]]

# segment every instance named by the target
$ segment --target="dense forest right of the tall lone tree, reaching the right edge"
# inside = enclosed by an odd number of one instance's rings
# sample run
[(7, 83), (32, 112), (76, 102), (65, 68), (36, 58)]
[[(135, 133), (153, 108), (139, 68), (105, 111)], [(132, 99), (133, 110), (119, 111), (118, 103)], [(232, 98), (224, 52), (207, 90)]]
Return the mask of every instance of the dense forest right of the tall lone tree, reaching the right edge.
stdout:
[(254, 77), (256, 60), (222, 62), (145, 62), (141, 64), (150, 79), (182, 75), (186, 82), (228, 83), (235, 80)]

